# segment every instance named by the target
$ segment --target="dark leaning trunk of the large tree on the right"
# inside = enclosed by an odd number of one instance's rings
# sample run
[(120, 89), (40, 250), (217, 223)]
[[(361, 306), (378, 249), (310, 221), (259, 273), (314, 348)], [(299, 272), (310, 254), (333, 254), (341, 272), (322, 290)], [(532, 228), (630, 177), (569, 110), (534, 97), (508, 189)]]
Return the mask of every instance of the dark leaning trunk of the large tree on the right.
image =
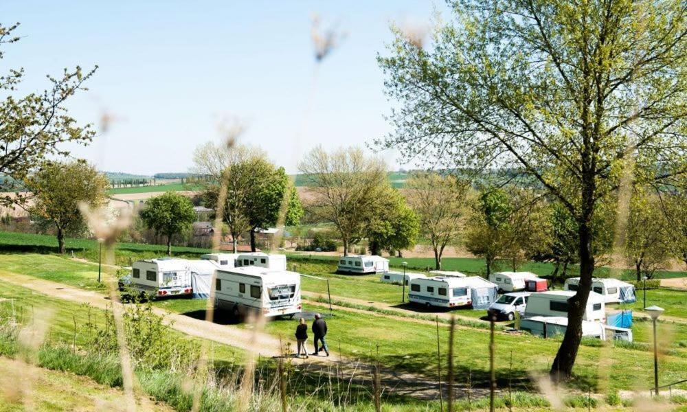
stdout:
[(587, 308), (589, 291), (592, 289), (592, 275), (594, 274), (594, 254), (592, 253), (592, 231), (589, 227), (591, 210), (579, 224), (580, 238), (580, 283), (577, 293), (568, 299), (567, 328), (563, 341), (559, 347), (554, 363), (551, 365), (550, 375), (558, 381), (570, 378), (572, 367), (575, 365), (577, 351), (582, 341), (582, 318)]

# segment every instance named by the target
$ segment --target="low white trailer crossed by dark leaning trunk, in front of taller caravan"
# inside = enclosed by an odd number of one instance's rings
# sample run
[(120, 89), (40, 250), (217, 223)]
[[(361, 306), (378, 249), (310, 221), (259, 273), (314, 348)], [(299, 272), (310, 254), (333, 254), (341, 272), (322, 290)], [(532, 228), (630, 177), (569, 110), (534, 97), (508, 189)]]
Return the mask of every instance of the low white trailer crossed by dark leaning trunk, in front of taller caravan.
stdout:
[[(559, 334), (565, 334), (567, 329), (567, 317), (541, 317), (536, 316), (520, 321), (520, 329), (530, 332), (534, 336), (550, 338)], [(599, 321), (582, 321), (582, 336), (601, 339), (607, 341), (616, 339), (618, 341), (632, 341), (632, 330), (629, 328), (618, 328), (617, 326), (605, 325)]]

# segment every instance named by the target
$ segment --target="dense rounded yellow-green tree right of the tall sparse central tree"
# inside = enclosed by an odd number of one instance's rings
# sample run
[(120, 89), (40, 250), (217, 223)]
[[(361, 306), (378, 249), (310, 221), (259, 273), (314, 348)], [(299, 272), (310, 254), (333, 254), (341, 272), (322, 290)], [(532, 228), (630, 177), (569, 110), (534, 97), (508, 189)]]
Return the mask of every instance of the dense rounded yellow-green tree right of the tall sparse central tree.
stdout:
[(370, 253), (381, 255), (407, 249), (415, 245), (420, 223), (415, 212), (407, 205), (398, 190), (387, 187), (380, 201), (370, 211), (365, 225), (365, 237), (370, 242)]

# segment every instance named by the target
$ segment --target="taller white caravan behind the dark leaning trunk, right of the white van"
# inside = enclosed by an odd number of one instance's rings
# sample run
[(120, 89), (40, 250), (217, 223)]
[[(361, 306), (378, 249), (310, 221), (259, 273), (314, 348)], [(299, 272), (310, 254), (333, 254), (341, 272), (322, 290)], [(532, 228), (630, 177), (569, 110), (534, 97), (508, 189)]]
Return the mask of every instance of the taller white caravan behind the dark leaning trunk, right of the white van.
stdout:
[[(548, 292), (537, 292), (530, 295), (525, 308), (525, 317), (566, 317), (568, 310), (568, 299), (573, 297), (575, 292), (570, 290), (549, 290)], [(590, 292), (587, 299), (587, 308), (582, 318), (585, 321), (605, 321), (606, 312), (604, 299), (598, 293)]]

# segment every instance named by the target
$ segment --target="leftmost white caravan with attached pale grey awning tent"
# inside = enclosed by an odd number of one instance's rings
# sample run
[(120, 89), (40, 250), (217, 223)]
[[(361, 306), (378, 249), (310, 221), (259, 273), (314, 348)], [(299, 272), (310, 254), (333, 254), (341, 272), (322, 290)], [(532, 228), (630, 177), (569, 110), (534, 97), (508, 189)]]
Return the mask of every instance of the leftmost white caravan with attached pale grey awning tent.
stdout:
[(131, 287), (155, 297), (207, 297), (210, 279), (219, 266), (210, 260), (148, 259), (134, 262)]

